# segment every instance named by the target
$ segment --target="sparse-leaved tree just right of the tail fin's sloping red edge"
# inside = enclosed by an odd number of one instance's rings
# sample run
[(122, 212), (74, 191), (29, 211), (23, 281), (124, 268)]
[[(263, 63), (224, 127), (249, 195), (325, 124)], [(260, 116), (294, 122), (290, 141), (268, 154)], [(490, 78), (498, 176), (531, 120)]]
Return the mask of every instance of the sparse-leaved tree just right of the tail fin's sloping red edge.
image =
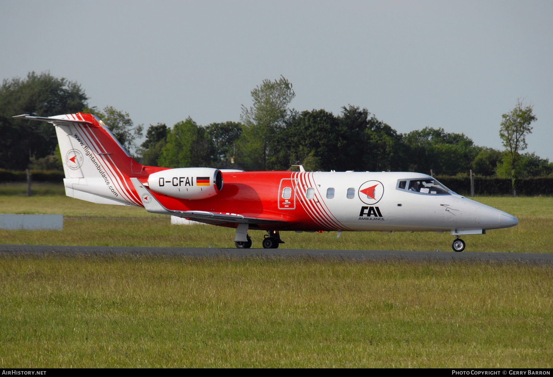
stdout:
[(106, 106), (102, 111), (96, 107), (85, 108), (85, 112), (95, 114), (115, 135), (119, 143), (123, 145), (130, 153), (137, 151), (137, 139), (142, 138), (144, 125), (134, 125), (129, 113), (119, 111), (113, 106)]

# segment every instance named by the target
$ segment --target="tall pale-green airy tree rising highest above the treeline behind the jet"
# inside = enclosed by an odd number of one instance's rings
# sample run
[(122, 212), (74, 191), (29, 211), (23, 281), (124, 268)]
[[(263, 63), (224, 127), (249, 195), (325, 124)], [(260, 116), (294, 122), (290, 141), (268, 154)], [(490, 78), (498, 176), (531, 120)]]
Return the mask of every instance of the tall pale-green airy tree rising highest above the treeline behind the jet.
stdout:
[(276, 133), (284, 127), (288, 104), (294, 99), (292, 84), (283, 76), (279, 80), (263, 80), (252, 92), (253, 105), (242, 105), (240, 119), (244, 124), (241, 143), (241, 163), (249, 169), (267, 170), (274, 149)]

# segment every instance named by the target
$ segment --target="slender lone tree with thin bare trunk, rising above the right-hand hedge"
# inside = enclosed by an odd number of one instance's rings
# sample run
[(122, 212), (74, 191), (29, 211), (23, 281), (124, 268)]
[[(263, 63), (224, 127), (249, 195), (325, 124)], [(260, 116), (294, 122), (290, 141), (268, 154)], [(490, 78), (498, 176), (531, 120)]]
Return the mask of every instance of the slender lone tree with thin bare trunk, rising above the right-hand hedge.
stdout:
[(517, 163), (519, 160), (519, 151), (528, 148), (526, 144), (526, 135), (532, 133), (531, 123), (538, 118), (533, 113), (534, 106), (524, 106), (524, 103), (517, 101), (517, 106), (510, 112), (502, 115), (503, 121), (499, 129), (499, 136), (503, 140), (503, 146), (511, 160), (511, 182), (513, 187), (513, 196), (517, 196)]

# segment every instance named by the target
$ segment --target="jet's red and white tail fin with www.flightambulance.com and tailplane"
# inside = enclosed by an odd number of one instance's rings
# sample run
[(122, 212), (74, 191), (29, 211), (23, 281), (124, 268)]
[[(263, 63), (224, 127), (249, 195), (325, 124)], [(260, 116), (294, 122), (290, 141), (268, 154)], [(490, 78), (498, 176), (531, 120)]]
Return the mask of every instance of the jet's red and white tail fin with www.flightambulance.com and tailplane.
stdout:
[(93, 203), (142, 206), (131, 177), (147, 177), (105, 124), (92, 114), (26, 118), (54, 124), (67, 196)]

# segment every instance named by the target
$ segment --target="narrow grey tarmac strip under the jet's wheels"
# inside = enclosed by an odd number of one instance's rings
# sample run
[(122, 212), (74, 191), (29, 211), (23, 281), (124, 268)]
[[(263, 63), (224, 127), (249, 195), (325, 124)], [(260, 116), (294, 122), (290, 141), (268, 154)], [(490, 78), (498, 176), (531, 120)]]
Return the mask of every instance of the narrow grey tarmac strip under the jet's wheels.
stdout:
[(326, 250), (326, 249), (218, 249), (165, 247), (0, 245), (3, 255), (183, 255), (248, 256), (267, 258), (333, 258), (343, 260), (410, 260), (410, 261), (497, 261), (552, 264), (551, 253), (480, 253), (480, 252), (405, 252), (395, 250)]

